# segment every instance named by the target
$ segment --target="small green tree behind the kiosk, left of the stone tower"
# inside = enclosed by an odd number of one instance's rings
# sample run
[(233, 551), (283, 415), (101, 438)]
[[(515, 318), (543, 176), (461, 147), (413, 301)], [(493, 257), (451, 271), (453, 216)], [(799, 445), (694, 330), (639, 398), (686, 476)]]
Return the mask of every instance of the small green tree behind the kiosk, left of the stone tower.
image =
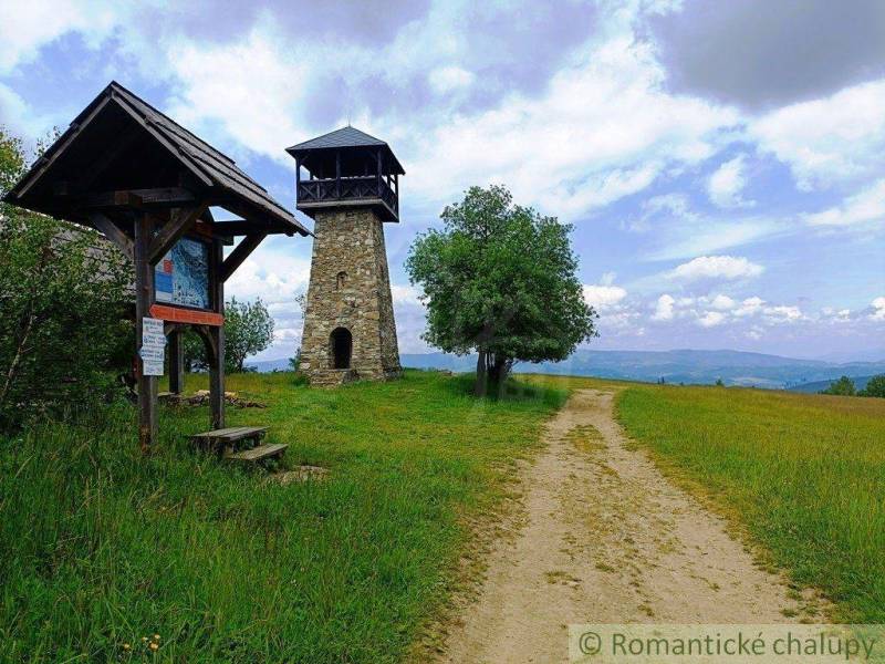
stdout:
[[(240, 302), (231, 298), (225, 303), (226, 372), (246, 371), (246, 359), (268, 349), (272, 342), (273, 319), (261, 298), (254, 302)], [(185, 369), (208, 369), (202, 339), (192, 330), (185, 333)]]

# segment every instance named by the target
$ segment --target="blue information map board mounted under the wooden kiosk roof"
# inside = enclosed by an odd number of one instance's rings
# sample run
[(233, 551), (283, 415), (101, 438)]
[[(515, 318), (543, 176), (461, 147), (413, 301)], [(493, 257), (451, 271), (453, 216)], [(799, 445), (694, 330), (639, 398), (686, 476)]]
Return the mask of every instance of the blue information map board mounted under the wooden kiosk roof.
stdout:
[(154, 272), (157, 302), (209, 309), (209, 245), (181, 238), (157, 263)]

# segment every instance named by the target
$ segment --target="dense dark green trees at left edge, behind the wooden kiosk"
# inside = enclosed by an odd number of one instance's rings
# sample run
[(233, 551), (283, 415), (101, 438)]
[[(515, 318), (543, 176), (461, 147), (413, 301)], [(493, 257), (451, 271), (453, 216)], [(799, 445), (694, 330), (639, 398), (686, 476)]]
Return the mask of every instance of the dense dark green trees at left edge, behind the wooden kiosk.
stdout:
[[(21, 139), (0, 127), (0, 197), (22, 176)], [(131, 267), (96, 257), (92, 230), (0, 204), (0, 428), (59, 414), (113, 390), (132, 354), (124, 320)]]

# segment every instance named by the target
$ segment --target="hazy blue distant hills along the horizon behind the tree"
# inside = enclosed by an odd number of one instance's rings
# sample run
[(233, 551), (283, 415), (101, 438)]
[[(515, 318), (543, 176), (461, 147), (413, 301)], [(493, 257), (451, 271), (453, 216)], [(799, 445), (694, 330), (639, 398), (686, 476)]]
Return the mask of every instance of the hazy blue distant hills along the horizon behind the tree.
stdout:
[[(403, 366), (471, 371), (476, 356), (457, 357), (445, 353), (403, 354)], [(868, 377), (885, 373), (885, 361), (835, 363), (798, 360), (742, 351), (586, 351), (575, 352), (559, 363), (521, 363), (524, 373), (553, 373), (603, 378), (667, 383), (712, 384), (721, 378), (727, 385), (792, 388), (808, 383), (830, 381), (842, 375)], [(823, 388), (823, 387), (822, 387)]]

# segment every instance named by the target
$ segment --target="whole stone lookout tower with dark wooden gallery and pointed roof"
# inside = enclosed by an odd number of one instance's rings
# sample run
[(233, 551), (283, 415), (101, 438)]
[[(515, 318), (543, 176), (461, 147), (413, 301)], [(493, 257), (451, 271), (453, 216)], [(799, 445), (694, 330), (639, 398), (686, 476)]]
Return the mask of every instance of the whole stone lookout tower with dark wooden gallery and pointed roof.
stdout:
[(298, 209), (315, 222), (301, 367), (314, 385), (396, 377), (382, 225), (399, 221), (405, 170), (384, 141), (350, 126), (287, 152), (298, 163)]

